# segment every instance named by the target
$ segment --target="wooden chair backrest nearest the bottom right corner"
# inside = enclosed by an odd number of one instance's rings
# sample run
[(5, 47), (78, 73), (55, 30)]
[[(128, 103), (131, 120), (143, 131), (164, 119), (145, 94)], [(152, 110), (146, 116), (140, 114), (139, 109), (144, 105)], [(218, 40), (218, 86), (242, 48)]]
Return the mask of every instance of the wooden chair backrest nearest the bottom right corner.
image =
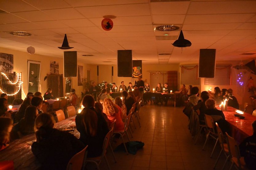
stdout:
[(239, 146), (237, 142), (235, 141), (234, 138), (229, 136), (226, 132), (227, 135), (227, 146), (228, 146), (228, 151), (232, 155), (232, 157), (236, 157), (238, 160), (239, 167), (241, 168), (241, 162), (240, 162), (240, 152), (239, 152)]

